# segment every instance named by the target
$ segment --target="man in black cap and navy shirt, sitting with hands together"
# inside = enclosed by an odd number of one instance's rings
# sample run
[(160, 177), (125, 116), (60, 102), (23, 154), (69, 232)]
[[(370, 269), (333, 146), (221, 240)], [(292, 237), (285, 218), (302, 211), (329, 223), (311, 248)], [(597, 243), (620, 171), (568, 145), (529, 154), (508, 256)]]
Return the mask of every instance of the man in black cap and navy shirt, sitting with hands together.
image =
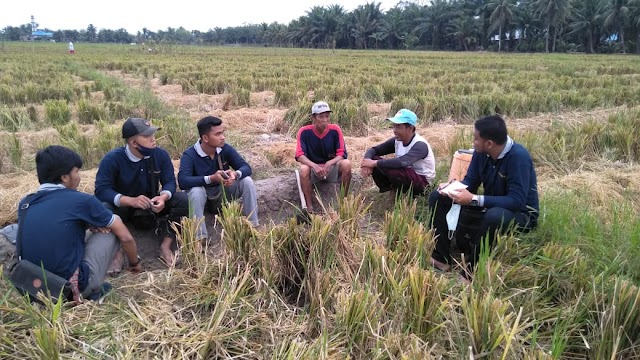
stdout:
[(155, 228), (163, 237), (159, 259), (171, 265), (175, 261), (171, 245), (176, 235), (169, 223), (180, 224), (189, 214), (189, 204), (186, 194), (176, 192), (169, 153), (156, 144), (158, 130), (145, 119), (124, 122), (122, 137), (126, 145), (111, 150), (100, 162), (95, 194), (125, 223), (141, 229)]

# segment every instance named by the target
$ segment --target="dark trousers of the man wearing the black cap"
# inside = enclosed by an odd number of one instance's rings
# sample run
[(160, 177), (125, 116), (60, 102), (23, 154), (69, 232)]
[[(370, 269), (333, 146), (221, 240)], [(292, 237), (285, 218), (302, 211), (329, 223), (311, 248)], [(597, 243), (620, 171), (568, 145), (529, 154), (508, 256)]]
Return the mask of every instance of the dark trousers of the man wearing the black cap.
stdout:
[[(104, 203), (105, 206), (113, 211), (114, 214), (120, 216), (125, 224), (132, 223), (133, 213), (138, 210), (132, 207), (116, 207), (110, 203)], [(155, 233), (162, 237), (170, 236), (175, 240), (176, 234), (171, 227), (171, 222), (180, 224), (183, 217), (189, 216), (189, 198), (187, 193), (179, 191), (175, 192), (169, 201), (164, 203), (164, 209), (156, 214)]]

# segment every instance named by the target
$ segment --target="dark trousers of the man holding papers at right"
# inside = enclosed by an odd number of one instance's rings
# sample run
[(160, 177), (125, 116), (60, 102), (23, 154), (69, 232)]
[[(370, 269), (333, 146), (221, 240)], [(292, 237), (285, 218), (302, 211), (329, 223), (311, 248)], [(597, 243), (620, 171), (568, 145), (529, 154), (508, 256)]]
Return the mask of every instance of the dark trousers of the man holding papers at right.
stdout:
[[(446, 195), (440, 195), (437, 190), (431, 192), (429, 196), (429, 209), (433, 219), (433, 230), (436, 236), (436, 248), (432, 257), (445, 264), (452, 264), (451, 259), (451, 241), (449, 240), (447, 226), (447, 213), (453, 205)], [(527, 232), (535, 228), (537, 219), (531, 217), (528, 213), (515, 213), (503, 208), (487, 209), (480, 230), (471, 239), (468, 249), (464, 253), (464, 259), (468, 269), (473, 271), (478, 259), (480, 258), (480, 249), (482, 240), (486, 236), (488, 239), (489, 249), (493, 246), (496, 233), (500, 231), (505, 233), (515, 228), (517, 231)]]

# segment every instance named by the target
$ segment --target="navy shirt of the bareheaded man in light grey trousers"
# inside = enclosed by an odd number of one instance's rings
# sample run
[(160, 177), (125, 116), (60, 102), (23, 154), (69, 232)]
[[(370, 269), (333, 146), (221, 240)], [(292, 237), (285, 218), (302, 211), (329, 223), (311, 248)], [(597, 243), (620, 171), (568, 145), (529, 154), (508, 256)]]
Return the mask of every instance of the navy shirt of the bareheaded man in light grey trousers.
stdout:
[[(218, 164), (218, 157), (222, 160), (222, 169)], [(207, 155), (200, 156), (195, 146), (191, 146), (182, 153), (180, 158), (178, 184), (182, 190), (189, 190), (197, 186), (220, 186), (220, 183), (207, 184), (204, 177), (213, 175), (218, 170), (229, 170), (229, 168), (239, 170), (242, 173), (239, 179), (251, 175), (251, 167), (231, 145), (222, 146), (221, 151), (213, 159)]]

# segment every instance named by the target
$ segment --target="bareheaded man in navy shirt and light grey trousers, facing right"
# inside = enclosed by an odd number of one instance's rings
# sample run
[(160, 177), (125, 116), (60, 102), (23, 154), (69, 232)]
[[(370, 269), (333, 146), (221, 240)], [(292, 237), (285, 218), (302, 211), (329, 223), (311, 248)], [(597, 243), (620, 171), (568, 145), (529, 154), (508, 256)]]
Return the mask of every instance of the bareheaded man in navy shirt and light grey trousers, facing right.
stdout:
[[(251, 167), (233, 146), (225, 143), (221, 119), (206, 116), (197, 126), (200, 139), (182, 153), (178, 172), (178, 183), (188, 192), (195, 217), (204, 216), (207, 204), (219, 208), (222, 196), (242, 198), (242, 213), (258, 226), (258, 202)], [(208, 238), (204, 222), (198, 238)]]

